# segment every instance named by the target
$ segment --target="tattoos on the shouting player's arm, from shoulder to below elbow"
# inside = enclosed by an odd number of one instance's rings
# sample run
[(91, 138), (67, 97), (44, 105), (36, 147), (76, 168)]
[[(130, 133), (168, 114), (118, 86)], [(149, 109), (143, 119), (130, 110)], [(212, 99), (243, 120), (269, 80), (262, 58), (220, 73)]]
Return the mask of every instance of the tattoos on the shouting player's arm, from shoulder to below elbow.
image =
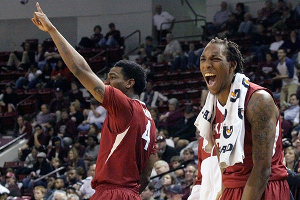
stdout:
[(251, 123), (253, 161), (265, 162), (270, 158), (270, 149), (274, 142), (276, 120), (274, 116), (274, 103), (272, 99), (263, 95), (250, 100), (247, 109), (249, 111), (249, 122)]

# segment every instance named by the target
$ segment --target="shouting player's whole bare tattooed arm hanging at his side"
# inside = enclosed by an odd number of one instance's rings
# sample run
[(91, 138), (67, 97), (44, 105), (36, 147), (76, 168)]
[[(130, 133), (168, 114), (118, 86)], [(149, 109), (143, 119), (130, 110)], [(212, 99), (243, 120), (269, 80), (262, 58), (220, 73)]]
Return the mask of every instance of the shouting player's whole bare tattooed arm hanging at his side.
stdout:
[(246, 116), (251, 124), (253, 168), (244, 187), (242, 200), (260, 199), (266, 188), (271, 173), (278, 114), (269, 93), (258, 90), (252, 94), (246, 107)]

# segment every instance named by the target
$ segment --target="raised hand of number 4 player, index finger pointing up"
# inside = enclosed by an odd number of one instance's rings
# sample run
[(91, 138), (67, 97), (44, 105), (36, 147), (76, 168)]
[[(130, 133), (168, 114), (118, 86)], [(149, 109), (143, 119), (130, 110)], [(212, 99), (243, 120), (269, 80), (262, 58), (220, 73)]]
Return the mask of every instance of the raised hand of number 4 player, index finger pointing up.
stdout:
[(31, 18), (31, 21), (42, 31), (48, 32), (54, 26), (48, 17), (42, 12), (38, 2), (36, 2), (36, 9), (37, 12), (33, 12), (33, 18)]

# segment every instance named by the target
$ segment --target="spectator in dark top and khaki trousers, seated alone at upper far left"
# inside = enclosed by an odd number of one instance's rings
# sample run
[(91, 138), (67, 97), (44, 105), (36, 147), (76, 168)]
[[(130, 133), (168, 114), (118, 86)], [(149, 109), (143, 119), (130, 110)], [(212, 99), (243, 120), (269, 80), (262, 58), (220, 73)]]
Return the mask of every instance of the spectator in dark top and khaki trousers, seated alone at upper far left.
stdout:
[[(34, 51), (30, 49), (30, 43), (24, 42), (22, 45), (23, 51), (13, 51), (9, 54), (9, 58), (7, 60), (7, 67), (2, 69), (8, 69), (8, 70), (14, 70), (18, 69), (20, 67), (20, 64), (25, 64), (23, 66), (26, 66), (28, 63), (34, 62)], [(21, 70), (27, 70), (27, 68), (21, 68)]]

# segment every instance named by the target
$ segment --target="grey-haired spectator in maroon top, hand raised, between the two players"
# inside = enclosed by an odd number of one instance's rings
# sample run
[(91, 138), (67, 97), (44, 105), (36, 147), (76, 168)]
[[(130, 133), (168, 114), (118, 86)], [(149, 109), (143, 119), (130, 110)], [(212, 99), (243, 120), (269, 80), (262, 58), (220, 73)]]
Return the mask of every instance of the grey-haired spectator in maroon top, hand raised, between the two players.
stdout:
[(177, 121), (183, 118), (183, 112), (178, 107), (178, 99), (170, 98), (168, 100), (168, 111), (163, 112), (159, 116), (159, 127), (158, 128), (166, 128), (169, 132), (169, 136), (171, 137), (176, 129)]

